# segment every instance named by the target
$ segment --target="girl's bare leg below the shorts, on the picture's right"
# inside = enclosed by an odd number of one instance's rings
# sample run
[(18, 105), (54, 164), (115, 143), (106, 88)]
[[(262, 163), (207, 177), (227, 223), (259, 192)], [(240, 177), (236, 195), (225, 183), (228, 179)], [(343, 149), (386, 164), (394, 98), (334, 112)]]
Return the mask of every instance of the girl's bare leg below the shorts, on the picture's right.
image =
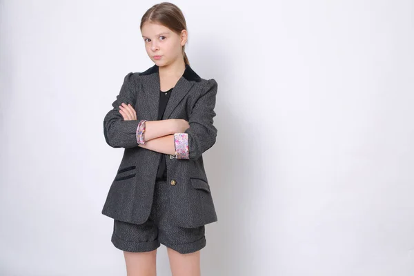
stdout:
[(200, 252), (180, 254), (167, 247), (172, 276), (201, 276)]

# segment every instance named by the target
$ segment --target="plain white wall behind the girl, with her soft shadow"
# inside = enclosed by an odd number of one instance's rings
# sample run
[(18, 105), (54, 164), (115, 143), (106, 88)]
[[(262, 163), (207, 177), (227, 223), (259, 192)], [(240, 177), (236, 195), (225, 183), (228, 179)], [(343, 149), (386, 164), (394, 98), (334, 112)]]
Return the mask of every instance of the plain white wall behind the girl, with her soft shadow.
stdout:
[[(0, 275), (125, 275), (102, 121), (155, 3), (0, 2)], [(174, 3), (219, 83), (203, 275), (414, 275), (413, 1)]]

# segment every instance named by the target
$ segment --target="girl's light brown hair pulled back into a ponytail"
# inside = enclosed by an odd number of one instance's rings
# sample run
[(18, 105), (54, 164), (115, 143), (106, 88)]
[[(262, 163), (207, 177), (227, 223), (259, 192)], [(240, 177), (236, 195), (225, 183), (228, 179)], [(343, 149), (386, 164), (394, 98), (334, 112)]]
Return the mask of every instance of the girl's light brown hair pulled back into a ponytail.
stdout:
[[(142, 16), (140, 29), (142, 29), (142, 26), (147, 21), (166, 26), (177, 34), (181, 34), (181, 30), (187, 30), (186, 19), (184, 19), (183, 12), (170, 2), (162, 2), (149, 8)], [(189, 65), (190, 62), (188, 61), (185, 48), (186, 46), (184, 45), (182, 48), (184, 63)]]

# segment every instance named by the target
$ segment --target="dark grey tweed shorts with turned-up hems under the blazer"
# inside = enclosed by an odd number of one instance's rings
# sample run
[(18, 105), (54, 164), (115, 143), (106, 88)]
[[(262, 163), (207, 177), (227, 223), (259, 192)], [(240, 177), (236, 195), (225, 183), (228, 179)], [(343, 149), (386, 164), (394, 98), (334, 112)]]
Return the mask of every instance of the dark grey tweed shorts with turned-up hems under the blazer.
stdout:
[(174, 187), (166, 180), (156, 181), (151, 212), (144, 224), (131, 224), (114, 219), (111, 242), (116, 248), (128, 252), (147, 252), (164, 244), (186, 254), (206, 246), (205, 226), (184, 228), (170, 221), (171, 188)]

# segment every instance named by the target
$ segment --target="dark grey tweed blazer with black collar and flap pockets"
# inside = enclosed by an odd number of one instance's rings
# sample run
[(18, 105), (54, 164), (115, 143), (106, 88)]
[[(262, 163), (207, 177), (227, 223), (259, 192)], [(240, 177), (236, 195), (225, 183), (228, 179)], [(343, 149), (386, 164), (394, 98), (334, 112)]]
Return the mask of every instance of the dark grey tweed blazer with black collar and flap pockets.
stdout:
[[(117, 99), (103, 119), (103, 134), (112, 148), (124, 148), (124, 156), (108, 191), (102, 214), (113, 219), (142, 224), (150, 215), (159, 158), (162, 153), (141, 148), (136, 130), (141, 119), (157, 120), (159, 67), (130, 72), (124, 78)], [(202, 154), (216, 141), (213, 117), (217, 95), (215, 79), (201, 79), (187, 64), (177, 81), (162, 119), (185, 119), (189, 159), (166, 155), (167, 181), (171, 193), (172, 219), (177, 225), (195, 228), (217, 221), (215, 206), (204, 170)], [(130, 103), (137, 120), (124, 121), (119, 106)]]

